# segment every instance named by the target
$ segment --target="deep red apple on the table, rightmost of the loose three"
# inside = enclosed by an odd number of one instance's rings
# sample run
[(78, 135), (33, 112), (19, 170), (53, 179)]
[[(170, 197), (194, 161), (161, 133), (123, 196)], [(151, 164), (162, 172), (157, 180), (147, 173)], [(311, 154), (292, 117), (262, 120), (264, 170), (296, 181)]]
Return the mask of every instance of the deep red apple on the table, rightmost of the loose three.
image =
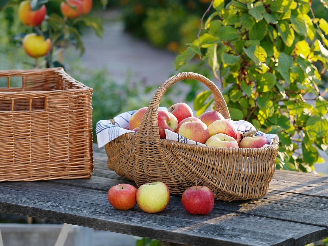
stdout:
[(206, 186), (193, 186), (185, 190), (182, 195), (183, 208), (192, 215), (206, 215), (214, 206), (214, 195)]

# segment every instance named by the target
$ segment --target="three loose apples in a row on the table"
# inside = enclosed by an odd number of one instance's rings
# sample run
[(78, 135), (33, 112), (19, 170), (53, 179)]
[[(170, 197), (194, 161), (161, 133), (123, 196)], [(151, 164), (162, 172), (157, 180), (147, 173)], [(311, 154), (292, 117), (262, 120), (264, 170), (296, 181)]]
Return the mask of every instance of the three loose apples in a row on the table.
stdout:
[[(141, 185), (138, 190), (131, 184), (118, 184), (109, 189), (108, 201), (119, 210), (132, 209), (136, 204), (146, 213), (163, 211), (170, 201), (170, 190), (163, 182)], [(193, 186), (182, 195), (183, 208), (192, 215), (206, 215), (214, 206), (214, 195), (206, 186)]]

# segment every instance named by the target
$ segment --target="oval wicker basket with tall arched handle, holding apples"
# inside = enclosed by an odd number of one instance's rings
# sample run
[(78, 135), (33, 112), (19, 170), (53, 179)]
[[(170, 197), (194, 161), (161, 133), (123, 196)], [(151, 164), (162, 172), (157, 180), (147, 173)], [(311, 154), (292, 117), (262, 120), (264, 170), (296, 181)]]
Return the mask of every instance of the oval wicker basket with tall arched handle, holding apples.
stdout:
[(268, 192), (275, 172), (278, 142), (264, 148), (219, 148), (160, 139), (157, 110), (165, 91), (183, 79), (195, 79), (207, 85), (215, 98), (215, 110), (230, 118), (219, 89), (204, 76), (179, 73), (156, 91), (137, 133), (127, 133), (106, 144), (108, 167), (140, 186), (163, 181), (173, 194), (188, 187), (208, 186), (220, 200), (258, 198)]

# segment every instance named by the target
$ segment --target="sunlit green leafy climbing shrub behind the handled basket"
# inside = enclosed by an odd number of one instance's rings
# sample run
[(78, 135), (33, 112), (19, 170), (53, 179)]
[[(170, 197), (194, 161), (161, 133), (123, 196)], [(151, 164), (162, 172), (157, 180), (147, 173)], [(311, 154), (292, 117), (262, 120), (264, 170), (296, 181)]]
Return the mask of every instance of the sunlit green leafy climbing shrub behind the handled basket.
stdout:
[[(328, 24), (312, 14), (311, 4), (233, 0), (224, 7), (215, 0), (216, 12), (199, 41), (188, 44), (175, 61), (179, 68), (196, 54), (207, 60), (231, 118), (278, 134), (276, 167), (302, 172), (322, 161), (318, 149), (328, 153), (327, 89), (321, 82), (328, 65)], [(213, 107), (210, 93), (200, 93), (194, 105), (197, 115)]]

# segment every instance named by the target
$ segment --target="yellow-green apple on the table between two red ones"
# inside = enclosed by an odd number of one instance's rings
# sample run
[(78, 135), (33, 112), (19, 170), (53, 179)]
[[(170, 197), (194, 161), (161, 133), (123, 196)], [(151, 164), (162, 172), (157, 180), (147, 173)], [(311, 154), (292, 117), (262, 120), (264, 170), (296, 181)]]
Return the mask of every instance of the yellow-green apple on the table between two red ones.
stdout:
[(170, 190), (163, 182), (157, 181), (141, 185), (136, 194), (139, 208), (146, 213), (163, 211), (170, 201)]

